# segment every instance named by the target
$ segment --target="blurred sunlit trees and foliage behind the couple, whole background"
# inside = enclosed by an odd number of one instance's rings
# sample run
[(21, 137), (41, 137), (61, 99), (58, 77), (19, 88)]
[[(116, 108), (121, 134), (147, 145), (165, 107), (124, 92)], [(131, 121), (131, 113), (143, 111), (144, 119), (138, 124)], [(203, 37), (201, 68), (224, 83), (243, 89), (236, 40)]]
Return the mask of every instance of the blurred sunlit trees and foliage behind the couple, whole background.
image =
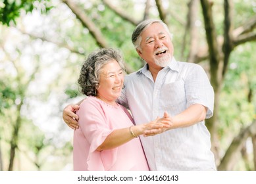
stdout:
[(115, 47), (127, 73), (141, 68), (130, 38), (146, 18), (168, 24), (176, 60), (209, 75), (218, 170), (256, 170), (255, 0), (0, 0), (0, 170), (72, 170), (62, 112), (84, 98), (81, 64)]

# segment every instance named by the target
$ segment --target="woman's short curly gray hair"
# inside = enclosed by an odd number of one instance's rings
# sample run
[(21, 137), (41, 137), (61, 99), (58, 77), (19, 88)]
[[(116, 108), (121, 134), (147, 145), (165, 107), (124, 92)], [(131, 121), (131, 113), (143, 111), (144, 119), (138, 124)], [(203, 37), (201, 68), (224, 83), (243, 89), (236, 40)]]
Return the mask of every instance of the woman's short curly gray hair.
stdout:
[(122, 70), (124, 70), (124, 64), (120, 51), (116, 49), (99, 49), (90, 53), (88, 58), (82, 65), (80, 70), (80, 76), (78, 78), (78, 84), (80, 85), (82, 93), (87, 96), (96, 96), (96, 89), (99, 86), (99, 75), (101, 69), (109, 62), (116, 60)]

